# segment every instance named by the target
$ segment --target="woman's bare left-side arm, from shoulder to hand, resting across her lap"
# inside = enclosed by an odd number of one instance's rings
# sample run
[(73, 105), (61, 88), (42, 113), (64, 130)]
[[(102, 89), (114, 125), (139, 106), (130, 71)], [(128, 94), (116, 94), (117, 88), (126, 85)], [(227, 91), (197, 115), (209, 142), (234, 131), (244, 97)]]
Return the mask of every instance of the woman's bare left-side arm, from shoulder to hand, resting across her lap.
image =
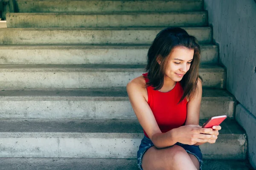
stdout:
[(137, 77), (129, 82), (127, 93), (140, 125), (155, 147), (170, 147), (177, 142), (192, 145), (197, 142), (207, 142), (212, 137), (212, 135), (202, 134), (210, 133), (212, 131), (211, 128), (199, 128), (192, 125), (181, 126), (162, 133), (146, 101), (148, 94), (147, 90), (143, 87), (145, 85), (145, 80), (143, 80), (143, 77)]

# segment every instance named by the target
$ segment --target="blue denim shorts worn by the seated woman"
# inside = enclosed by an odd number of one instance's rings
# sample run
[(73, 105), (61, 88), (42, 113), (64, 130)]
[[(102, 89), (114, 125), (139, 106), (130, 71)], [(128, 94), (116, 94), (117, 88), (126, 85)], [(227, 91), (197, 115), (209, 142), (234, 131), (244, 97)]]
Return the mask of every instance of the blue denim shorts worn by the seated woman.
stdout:
[[(179, 143), (179, 142), (177, 142), (176, 145), (183, 147), (186, 150), (187, 153), (191, 153), (192, 155), (194, 155), (200, 163), (200, 170), (202, 170), (203, 155), (201, 153), (201, 150), (200, 150), (199, 146), (182, 144), (182, 143)], [(153, 142), (149, 138), (144, 136), (143, 139), (141, 140), (140, 147), (139, 147), (139, 150), (137, 152), (137, 161), (138, 161), (138, 166), (139, 166), (140, 170), (143, 170), (142, 169), (143, 155), (152, 146), (154, 146)]]

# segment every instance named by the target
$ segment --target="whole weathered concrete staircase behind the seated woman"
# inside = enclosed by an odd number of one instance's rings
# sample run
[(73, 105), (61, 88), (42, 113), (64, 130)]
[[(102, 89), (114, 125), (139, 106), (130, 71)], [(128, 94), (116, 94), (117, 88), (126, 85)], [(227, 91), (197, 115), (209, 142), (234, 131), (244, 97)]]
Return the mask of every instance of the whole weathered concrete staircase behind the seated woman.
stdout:
[(0, 169), (136, 170), (143, 130), (125, 85), (156, 34), (182, 26), (202, 46), (201, 124), (227, 114), (203, 168), (251, 170), (236, 99), (202, 0), (17, 0), (0, 28)]

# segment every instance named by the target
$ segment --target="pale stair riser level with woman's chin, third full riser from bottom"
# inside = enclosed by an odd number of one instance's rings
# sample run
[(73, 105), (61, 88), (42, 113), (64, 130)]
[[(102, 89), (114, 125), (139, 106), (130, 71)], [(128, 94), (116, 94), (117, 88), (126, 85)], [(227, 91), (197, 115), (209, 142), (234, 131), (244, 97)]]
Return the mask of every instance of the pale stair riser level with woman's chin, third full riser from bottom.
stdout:
[[(144, 71), (145, 72), (145, 71)], [(125, 87), (127, 83), (142, 75), (138, 72), (78, 72), (78, 71), (37, 71), (0, 73), (1, 88), (112, 88)], [(225, 72), (211, 72), (202, 69), (203, 87), (223, 88)]]

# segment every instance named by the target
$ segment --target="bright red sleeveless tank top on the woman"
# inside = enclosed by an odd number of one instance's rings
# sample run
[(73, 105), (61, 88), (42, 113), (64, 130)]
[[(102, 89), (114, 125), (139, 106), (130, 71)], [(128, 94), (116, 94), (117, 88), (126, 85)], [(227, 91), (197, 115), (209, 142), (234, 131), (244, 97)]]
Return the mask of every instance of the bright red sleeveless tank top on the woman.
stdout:
[[(143, 74), (148, 82), (148, 73)], [(154, 90), (152, 86), (147, 87), (148, 105), (151, 108), (162, 133), (174, 128), (183, 126), (186, 122), (187, 100), (186, 98), (178, 104), (183, 95), (183, 88), (180, 82), (176, 82), (175, 87), (166, 93)], [(148, 135), (145, 133), (145, 136)]]

